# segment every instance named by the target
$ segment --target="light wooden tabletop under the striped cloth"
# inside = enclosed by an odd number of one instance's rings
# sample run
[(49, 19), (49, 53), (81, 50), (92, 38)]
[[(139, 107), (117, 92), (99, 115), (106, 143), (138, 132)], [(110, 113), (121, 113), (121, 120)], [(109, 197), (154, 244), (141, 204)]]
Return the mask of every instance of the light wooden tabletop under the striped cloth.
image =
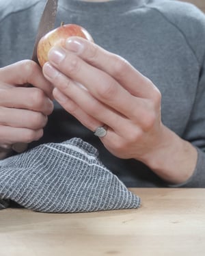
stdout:
[(1, 256), (205, 255), (205, 189), (137, 188), (139, 209), (0, 211)]

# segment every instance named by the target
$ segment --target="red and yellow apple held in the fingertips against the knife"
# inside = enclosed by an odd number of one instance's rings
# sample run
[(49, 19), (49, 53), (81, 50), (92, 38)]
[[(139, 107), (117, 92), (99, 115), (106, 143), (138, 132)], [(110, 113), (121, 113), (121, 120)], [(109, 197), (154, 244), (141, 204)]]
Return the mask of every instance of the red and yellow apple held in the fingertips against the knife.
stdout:
[(65, 24), (49, 31), (45, 36), (43, 36), (38, 42), (37, 56), (40, 66), (43, 66), (48, 62), (48, 53), (50, 49), (54, 46), (64, 47), (66, 44), (66, 39), (70, 36), (80, 36), (89, 41), (94, 41), (92, 36), (83, 27), (76, 24)]

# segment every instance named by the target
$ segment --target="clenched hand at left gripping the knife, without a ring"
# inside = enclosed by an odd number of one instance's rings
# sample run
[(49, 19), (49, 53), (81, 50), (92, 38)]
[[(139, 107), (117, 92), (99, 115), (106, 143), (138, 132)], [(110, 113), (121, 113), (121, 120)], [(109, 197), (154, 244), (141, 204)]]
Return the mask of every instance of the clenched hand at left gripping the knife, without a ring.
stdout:
[(42, 137), (53, 112), (52, 91), (40, 66), (31, 60), (0, 68), (0, 147)]

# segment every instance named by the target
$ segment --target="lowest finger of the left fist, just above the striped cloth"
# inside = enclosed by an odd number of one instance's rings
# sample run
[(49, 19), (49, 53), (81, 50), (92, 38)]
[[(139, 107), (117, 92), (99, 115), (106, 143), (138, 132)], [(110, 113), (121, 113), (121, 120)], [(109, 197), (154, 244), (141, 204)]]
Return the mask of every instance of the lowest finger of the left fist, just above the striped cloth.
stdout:
[(43, 129), (32, 130), (0, 125), (0, 144), (30, 143), (39, 140), (42, 136)]

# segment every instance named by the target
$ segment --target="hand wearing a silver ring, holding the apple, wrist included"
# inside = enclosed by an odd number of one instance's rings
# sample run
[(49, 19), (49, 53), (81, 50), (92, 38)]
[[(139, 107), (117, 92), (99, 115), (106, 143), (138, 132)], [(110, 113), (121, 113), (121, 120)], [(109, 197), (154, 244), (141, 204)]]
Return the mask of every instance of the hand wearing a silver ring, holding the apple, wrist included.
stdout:
[[(55, 86), (55, 99), (83, 125), (92, 131), (107, 125), (107, 135), (100, 140), (113, 155), (138, 159), (169, 181), (181, 182), (191, 175), (195, 149), (163, 125), (161, 93), (122, 57), (70, 38), (65, 49), (51, 49), (43, 73)], [(185, 173), (180, 175), (170, 172), (170, 160), (163, 164), (176, 149), (182, 150), (183, 159), (193, 155), (191, 168), (182, 166)]]

